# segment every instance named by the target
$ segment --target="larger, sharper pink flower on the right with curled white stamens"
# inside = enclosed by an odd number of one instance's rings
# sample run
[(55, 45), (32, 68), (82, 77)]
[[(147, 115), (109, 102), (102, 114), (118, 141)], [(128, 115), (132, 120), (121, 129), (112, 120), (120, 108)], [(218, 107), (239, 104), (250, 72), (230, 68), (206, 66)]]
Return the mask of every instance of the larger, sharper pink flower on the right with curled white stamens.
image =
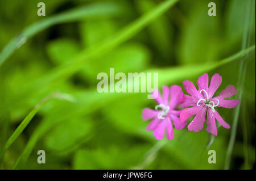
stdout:
[(183, 85), (189, 95), (184, 95), (184, 102), (182, 107), (192, 106), (182, 110), (180, 113), (180, 120), (184, 122), (189, 117), (196, 115), (191, 123), (188, 125), (189, 131), (199, 132), (204, 127), (205, 115), (207, 113), (207, 132), (217, 136), (217, 127), (215, 119), (222, 127), (229, 129), (230, 125), (226, 123), (220, 114), (215, 110), (216, 107), (234, 108), (241, 100), (233, 99), (226, 100), (229, 96), (237, 94), (237, 90), (234, 86), (229, 85), (216, 97), (213, 97), (214, 92), (221, 85), (222, 78), (219, 74), (214, 74), (210, 80), (210, 86), (208, 87), (208, 74), (203, 74), (197, 79), (197, 85), (199, 90), (191, 81), (184, 81)]

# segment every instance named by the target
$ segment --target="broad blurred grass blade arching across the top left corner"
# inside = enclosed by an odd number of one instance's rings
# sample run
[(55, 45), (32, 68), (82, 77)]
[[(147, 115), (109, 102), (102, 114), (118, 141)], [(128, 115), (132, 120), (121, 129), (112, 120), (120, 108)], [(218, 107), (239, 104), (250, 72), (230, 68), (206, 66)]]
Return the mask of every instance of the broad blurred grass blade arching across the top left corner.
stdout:
[(117, 15), (121, 13), (121, 7), (116, 3), (96, 3), (93, 5), (86, 5), (73, 9), (67, 12), (63, 12), (58, 15), (53, 15), (50, 18), (40, 20), (32, 24), (23, 30), (18, 36), (14, 37), (6, 46), (3, 48), (0, 54), (0, 66), (6, 59), (11, 56), (16, 49), (18, 49), (22, 44), (24, 44), (27, 39), (36, 35), (36, 33), (45, 30), (55, 24), (68, 23), (76, 20), (81, 20), (84, 18), (91, 18), (94, 16), (109, 16)]

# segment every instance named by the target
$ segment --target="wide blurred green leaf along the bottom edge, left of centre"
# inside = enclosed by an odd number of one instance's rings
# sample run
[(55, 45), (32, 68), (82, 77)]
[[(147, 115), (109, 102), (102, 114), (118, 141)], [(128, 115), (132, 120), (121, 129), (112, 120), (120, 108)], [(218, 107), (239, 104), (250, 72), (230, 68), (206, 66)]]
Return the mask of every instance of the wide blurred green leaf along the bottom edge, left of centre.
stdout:
[(108, 148), (81, 149), (73, 159), (74, 169), (130, 169), (143, 159), (148, 145), (130, 145), (129, 148), (109, 146)]

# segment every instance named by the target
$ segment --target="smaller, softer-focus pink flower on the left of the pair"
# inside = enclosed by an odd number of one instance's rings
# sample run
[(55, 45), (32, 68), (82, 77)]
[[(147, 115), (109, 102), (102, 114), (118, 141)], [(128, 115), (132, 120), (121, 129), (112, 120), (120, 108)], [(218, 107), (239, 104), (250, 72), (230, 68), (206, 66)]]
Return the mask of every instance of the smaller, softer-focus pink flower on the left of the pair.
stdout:
[[(157, 92), (155, 92), (157, 91)], [(156, 93), (155, 101), (158, 106), (155, 110), (150, 108), (144, 108), (142, 111), (142, 119), (153, 119), (147, 126), (147, 131), (154, 130), (154, 136), (157, 140), (162, 140), (166, 129), (167, 139), (172, 140), (174, 138), (174, 130), (172, 128), (172, 122), (175, 129), (182, 129), (187, 123), (181, 123), (179, 119), (180, 111), (175, 108), (183, 101), (183, 91), (180, 86), (163, 86), (163, 97), (160, 96), (159, 90), (154, 90), (152, 94)], [(171, 97), (171, 98), (170, 98)], [(169, 101), (170, 99), (170, 101)]]

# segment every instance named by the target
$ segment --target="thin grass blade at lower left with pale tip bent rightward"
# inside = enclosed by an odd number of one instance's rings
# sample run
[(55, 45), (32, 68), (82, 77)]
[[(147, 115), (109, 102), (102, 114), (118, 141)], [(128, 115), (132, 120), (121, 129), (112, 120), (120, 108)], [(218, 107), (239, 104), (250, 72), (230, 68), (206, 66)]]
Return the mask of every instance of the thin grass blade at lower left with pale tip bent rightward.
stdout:
[(27, 125), (30, 123), (32, 118), (35, 116), (35, 114), (40, 110), (40, 108), (48, 102), (48, 100), (51, 100), (52, 98), (62, 99), (62, 100), (68, 100), (73, 102), (74, 99), (71, 95), (60, 93), (60, 92), (53, 92), (52, 94), (46, 96), (43, 98), (30, 113), (24, 118), (22, 123), (19, 124), (18, 128), (15, 129), (14, 133), (11, 134), (10, 138), (6, 141), (5, 145), (3, 146), (3, 149), (0, 153), (0, 165), (2, 164), (3, 155), (5, 154), (5, 151), (13, 144), (13, 142), (18, 138), (18, 136), (23, 132), (23, 130), (27, 127)]

